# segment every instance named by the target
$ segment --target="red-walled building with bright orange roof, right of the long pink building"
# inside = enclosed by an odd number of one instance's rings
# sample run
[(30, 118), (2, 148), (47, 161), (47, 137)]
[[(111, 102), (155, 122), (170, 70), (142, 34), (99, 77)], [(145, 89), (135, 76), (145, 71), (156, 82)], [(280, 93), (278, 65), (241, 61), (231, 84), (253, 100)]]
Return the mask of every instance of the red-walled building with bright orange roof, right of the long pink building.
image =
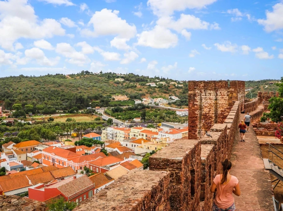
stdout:
[(114, 157), (114, 156), (108, 156), (105, 158), (100, 158), (95, 161), (92, 161), (89, 163), (90, 170), (100, 173), (100, 172), (107, 172), (110, 170), (110, 166), (119, 164), (122, 162), (123, 159)]

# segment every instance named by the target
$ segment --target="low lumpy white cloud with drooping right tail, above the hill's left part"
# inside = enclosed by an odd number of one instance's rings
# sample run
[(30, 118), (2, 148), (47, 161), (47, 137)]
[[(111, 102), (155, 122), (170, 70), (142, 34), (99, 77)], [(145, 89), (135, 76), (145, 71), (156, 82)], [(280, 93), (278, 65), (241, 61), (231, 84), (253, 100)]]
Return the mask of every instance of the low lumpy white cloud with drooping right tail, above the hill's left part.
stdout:
[(28, 59), (36, 59), (39, 65), (47, 65), (47, 66), (54, 66), (57, 65), (60, 61), (60, 57), (57, 56), (56, 58), (47, 58), (44, 55), (44, 52), (39, 48), (31, 48), (25, 50), (26, 58), (19, 59), (17, 61), (18, 64), (26, 64)]

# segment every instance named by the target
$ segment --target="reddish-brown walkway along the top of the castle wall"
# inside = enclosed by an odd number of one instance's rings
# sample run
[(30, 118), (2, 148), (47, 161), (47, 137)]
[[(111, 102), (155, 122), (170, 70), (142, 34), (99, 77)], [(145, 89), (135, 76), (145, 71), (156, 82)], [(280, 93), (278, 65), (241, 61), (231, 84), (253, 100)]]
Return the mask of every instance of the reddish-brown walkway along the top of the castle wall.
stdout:
[[(245, 114), (240, 114), (240, 120)], [(260, 146), (253, 127), (246, 133), (245, 142), (241, 142), (236, 132), (232, 152), (231, 174), (239, 180), (241, 196), (235, 196), (237, 211), (272, 210), (272, 187), (269, 172), (264, 169)]]

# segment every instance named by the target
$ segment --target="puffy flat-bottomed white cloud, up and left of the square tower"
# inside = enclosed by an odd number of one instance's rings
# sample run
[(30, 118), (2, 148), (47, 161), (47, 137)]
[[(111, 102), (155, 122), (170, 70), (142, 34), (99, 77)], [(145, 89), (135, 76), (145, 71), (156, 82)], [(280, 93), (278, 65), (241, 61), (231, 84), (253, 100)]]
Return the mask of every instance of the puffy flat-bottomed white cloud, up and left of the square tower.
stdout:
[(178, 36), (169, 29), (156, 25), (150, 31), (143, 31), (138, 34), (139, 46), (148, 46), (152, 48), (170, 48), (178, 43)]

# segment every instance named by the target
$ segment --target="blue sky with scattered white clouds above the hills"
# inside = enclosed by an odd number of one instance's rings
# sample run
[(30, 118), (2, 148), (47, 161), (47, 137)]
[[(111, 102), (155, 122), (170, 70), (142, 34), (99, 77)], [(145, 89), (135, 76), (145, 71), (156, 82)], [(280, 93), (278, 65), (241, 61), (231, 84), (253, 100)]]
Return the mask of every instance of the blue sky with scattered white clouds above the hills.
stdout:
[(0, 77), (279, 79), (283, 1), (0, 0)]

